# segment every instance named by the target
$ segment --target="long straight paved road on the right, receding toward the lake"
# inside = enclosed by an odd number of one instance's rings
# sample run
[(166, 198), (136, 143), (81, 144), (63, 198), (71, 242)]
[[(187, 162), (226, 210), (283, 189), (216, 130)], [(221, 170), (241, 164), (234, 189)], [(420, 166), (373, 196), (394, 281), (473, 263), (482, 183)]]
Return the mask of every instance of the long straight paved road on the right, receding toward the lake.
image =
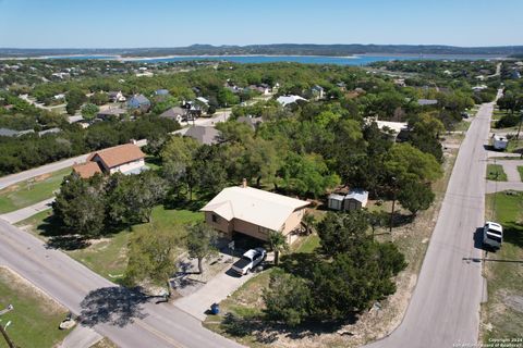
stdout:
[[(419, 278), (401, 325), (369, 347), (451, 348), (475, 344), (483, 295), (474, 233), (484, 223), (492, 103), (483, 104), (461, 145)], [(469, 346), (471, 347), (471, 346)]]

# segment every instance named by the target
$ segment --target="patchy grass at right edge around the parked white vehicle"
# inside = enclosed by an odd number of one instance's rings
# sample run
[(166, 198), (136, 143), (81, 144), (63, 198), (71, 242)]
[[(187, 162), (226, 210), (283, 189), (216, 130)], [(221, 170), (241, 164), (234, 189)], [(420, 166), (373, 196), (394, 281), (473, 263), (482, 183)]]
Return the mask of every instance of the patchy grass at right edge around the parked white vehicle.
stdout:
[[(496, 204), (494, 199), (496, 197)], [(523, 192), (487, 195), (487, 219), (503, 226), (503, 244), (488, 259), (519, 262), (485, 262), (488, 302), (483, 307), (483, 341), (521, 338), (523, 327)], [(496, 211), (492, 212), (495, 207)], [(491, 325), (491, 330), (485, 330)]]

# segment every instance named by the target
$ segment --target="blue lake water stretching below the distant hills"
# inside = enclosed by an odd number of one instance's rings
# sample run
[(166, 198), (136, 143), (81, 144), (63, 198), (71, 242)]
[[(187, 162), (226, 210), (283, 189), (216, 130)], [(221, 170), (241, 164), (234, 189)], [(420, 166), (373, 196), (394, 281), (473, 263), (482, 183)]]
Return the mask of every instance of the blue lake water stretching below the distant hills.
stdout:
[[(186, 61), (229, 61), (234, 63), (275, 63), (293, 62), (304, 64), (336, 64), (336, 65), (366, 65), (379, 61), (393, 60), (486, 60), (495, 59), (495, 55), (465, 55), (465, 54), (427, 54), (427, 55), (354, 55), (354, 57), (324, 57), (324, 55), (184, 55), (168, 58), (133, 59), (133, 62), (167, 63)], [(115, 59), (113, 55), (61, 55), (48, 57), (48, 59)], [(125, 59), (123, 59), (125, 60)]]

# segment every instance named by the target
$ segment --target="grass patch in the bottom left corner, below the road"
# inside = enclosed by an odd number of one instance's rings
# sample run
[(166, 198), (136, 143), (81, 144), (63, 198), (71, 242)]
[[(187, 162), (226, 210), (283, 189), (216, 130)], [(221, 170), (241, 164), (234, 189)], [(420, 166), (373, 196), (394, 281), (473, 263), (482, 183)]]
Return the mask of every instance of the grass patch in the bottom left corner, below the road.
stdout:
[[(9, 321), (7, 332), (17, 347), (56, 347), (69, 334), (58, 325), (68, 311), (8, 269), (0, 268), (0, 310), (13, 304), (14, 310), (1, 316)], [(0, 337), (0, 347), (7, 347)]]

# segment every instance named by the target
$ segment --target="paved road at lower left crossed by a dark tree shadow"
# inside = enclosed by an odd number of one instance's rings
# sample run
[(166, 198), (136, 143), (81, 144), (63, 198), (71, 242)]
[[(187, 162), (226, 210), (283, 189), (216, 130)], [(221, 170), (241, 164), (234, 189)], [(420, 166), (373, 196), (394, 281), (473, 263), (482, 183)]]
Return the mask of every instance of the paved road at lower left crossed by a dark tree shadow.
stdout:
[(117, 287), (64, 253), (0, 220), (0, 264), (42, 289), (120, 347), (230, 347), (172, 304)]

